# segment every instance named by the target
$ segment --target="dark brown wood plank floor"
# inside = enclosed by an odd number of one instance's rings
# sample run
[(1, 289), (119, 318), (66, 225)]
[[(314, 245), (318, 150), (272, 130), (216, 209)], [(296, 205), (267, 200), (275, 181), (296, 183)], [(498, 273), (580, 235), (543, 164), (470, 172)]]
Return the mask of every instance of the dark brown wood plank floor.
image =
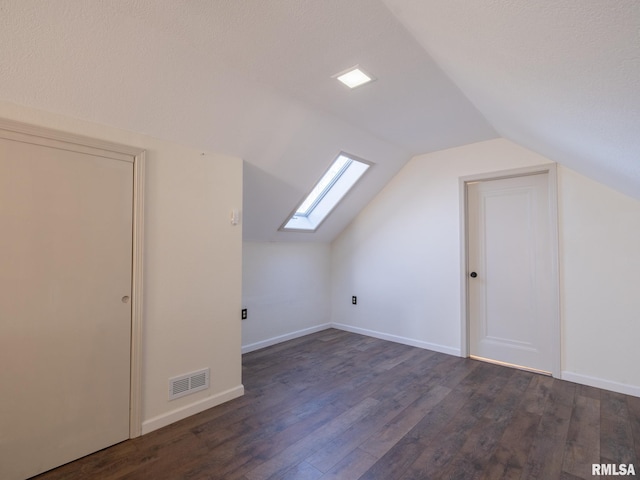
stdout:
[(243, 363), (244, 397), (36, 478), (640, 476), (640, 398), (338, 330)]

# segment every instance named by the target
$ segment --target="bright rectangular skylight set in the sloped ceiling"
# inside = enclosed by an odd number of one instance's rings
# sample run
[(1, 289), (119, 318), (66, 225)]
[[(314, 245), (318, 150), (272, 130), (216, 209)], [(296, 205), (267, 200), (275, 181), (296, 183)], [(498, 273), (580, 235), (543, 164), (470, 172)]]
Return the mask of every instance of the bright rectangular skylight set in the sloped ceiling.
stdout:
[(371, 165), (341, 153), (281, 230), (314, 231)]

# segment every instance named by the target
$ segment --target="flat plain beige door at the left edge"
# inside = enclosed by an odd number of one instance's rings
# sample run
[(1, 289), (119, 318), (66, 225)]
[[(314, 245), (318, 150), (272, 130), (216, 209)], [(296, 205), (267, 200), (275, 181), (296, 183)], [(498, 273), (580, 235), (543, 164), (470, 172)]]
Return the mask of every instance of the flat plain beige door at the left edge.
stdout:
[(4, 480), (129, 438), (133, 163), (89, 150), (0, 139)]

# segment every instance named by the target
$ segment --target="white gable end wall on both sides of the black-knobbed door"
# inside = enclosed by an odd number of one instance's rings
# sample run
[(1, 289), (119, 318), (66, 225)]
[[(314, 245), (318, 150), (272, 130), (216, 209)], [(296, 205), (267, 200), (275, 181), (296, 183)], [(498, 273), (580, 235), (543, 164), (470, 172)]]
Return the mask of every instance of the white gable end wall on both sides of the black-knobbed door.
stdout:
[[(460, 354), (458, 179), (548, 162), (504, 139), (413, 158), (332, 244), (332, 321)], [(563, 377), (637, 395), (640, 202), (559, 171)]]

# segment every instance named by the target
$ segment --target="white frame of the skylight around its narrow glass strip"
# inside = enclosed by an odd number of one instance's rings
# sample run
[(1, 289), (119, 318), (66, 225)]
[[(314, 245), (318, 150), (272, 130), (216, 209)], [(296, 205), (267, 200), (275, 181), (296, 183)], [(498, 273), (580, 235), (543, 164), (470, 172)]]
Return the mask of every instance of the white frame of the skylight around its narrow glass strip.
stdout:
[[(300, 211), (300, 208), (308, 202), (309, 196), (312, 195), (316, 187), (325, 180), (326, 175), (331, 172), (331, 169), (341, 158), (347, 160), (345, 165), (328, 181), (327, 186), (317, 194), (317, 198), (311, 201), (310, 206), (307, 207), (306, 210)], [(285, 232), (315, 232), (372, 165), (373, 163), (362, 160), (354, 155), (340, 152), (329, 168), (325, 170), (320, 180), (316, 182), (311, 192), (305, 195), (298, 203), (298, 207), (289, 214), (279, 230)]]

